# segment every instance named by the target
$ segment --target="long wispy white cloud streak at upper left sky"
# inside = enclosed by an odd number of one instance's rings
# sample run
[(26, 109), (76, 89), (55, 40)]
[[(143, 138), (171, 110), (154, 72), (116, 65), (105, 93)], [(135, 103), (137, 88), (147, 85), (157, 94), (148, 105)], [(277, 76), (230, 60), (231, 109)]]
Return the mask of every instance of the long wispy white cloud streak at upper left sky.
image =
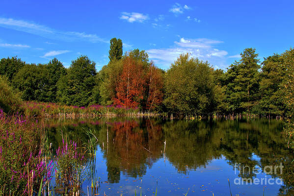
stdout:
[(109, 43), (109, 41), (103, 38), (100, 38), (96, 34), (87, 34), (85, 32), (75, 32), (75, 31), (60, 31), (45, 25), (38, 25), (33, 22), (15, 20), (11, 18), (0, 18), (0, 26), (4, 28), (27, 32), (30, 34), (38, 35), (38, 36), (53, 39), (53, 40), (62, 40), (62, 41), (68, 41), (68, 42), (88, 41), (92, 43), (97, 43), (97, 42)]

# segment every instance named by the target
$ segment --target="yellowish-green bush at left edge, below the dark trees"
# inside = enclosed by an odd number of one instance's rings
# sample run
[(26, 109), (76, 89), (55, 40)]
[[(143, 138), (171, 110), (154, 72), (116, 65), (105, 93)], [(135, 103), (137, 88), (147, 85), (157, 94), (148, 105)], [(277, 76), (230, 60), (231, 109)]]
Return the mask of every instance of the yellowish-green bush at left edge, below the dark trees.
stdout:
[(5, 76), (0, 75), (0, 108), (9, 113), (16, 111), (21, 104), (19, 93), (14, 93)]

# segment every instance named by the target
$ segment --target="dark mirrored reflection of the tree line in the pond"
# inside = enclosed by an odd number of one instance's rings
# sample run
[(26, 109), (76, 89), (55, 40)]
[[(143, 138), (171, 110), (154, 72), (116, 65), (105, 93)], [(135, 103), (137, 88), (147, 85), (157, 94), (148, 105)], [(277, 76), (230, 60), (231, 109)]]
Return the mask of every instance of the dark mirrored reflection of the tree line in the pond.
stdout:
[(256, 177), (252, 172), (255, 166), (263, 170), (282, 163), (283, 172), (278, 170), (271, 176), (283, 178), (278, 195), (293, 193), (294, 156), (280, 133), (281, 121), (102, 119), (42, 123), (48, 127), (55, 148), (62, 142), (60, 130), (83, 144), (89, 139), (85, 130), (91, 129), (98, 139), (99, 153), (106, 160), (109, 183), (119, 183), (122, 175), (141, 178), (161, 159), (182, 174), (205, 169), (212, 161), (224, 159), (231, 173), (237, 170), (246, 179)]

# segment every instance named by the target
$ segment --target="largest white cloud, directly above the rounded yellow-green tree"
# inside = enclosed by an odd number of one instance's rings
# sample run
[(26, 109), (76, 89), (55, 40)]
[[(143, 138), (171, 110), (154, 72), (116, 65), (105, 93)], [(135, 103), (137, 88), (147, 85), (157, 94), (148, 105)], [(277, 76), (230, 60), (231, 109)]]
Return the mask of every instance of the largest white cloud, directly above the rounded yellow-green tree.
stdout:
[(214, 66), (223, 67), (225, 64), (228, 52), (215, 48), (215, 45), (223, 43), (221, 41), (206, 38), (181, 38), (174, 43), (175, 46), (171, 48), (147, 50), (149, 58), (166, 68), (182, 53), (190, 53), (193, 57), (208, 60)]

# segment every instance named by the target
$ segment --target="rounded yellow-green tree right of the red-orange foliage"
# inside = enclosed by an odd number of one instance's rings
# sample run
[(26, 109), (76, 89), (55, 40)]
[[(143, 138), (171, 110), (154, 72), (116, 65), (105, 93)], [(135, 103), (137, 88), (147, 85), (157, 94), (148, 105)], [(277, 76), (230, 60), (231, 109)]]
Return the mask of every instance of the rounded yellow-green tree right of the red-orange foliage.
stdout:
[(209, 113), (213, 111), (214, 86), (208, 62), (181, 54), (166, 72), (163, 102), (174, 113)]

